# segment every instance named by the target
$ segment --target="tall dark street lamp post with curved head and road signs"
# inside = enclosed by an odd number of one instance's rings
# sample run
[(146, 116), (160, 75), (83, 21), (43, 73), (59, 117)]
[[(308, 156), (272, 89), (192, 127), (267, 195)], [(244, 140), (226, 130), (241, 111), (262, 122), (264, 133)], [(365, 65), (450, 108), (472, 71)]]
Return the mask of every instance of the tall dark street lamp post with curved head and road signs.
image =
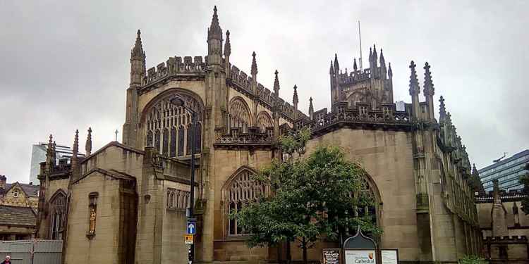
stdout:
[[(191, 180), (190, 180), (190, 203), (189, 203), (189, 217), (194, 218), (195, 216), (195, 130), (197, 127), (197, 112), (186, 106), (186, 103), (181, 97), (174, 97), (170, 100), (174, 106), (181, 106), (186, 108), (191, 113)], [(189, 247), (189, 263), (193, 263), (195, 256), (195, 244), (191, 244)]]

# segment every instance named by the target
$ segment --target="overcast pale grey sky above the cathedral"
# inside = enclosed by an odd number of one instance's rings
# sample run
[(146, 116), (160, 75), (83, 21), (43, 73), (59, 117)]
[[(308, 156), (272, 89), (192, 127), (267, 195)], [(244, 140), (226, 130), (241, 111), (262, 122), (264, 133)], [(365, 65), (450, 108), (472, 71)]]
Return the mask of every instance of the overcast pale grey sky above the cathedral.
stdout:
[[(332, 3), (332, 4), (329, 4)], [(330, 106), (329, 61), (353, 68), (384, 50), (394, 100), (411, 102), (411, 60), (431, 65), (435, 109), (444, 96), (470, 162), (478, 168), (529, 149), (529, 1), (0, 1), (0, 175), (29, 182), (32, 144), (93, 150), (125, 119), (130, 49), (142, 31), (147, 68), (170, 56), (205, 56), (213, 6), (230, 30), (230, 61), (308, 113)], [(436, 113), (438, 117), (438, 113)]]

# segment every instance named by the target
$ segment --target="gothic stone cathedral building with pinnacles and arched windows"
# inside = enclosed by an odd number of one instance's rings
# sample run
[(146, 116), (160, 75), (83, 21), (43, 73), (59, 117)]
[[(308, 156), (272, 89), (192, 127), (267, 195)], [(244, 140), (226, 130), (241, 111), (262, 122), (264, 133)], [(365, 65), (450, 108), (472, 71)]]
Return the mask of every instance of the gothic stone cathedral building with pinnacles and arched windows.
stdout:
[[(171, 56), (147, 69), (138, 30), (122, 142), (92, 152), (88, 130), (86, 155), (80, 157), (75, 132), (70, 163), (57, 164), (48, 148), (40, 165), (37, 236), (63, 239), (64, 263), (186, 263), (191, 188), (196, 260), (278, 262), (286, 259), (287, 246), (293, 260), (300, 260), (295, 244), (248, 249), (248, 234), (228, 215), (267, 191), (251, 176), (281, 158), (281, 134), (301, 127), (312, 132), (309, 153), (332, 144), (361, 161), (369, 174), (364, 187), (377, 201), (367, 211), (383, 230), (379, 245), (398, 248), (403, 263), (454, 261), (481, 251), (474, 201), (479, 184), (443, 99), (436, 118), (430, 65), (423, 67), (420, 99), (411, 61), (411, 103), (398, 111), (382, 50), (373, 46), (369, 68), (353, 65), (350, 73), (335, 56), (329, 69), (332, 107), (315, 111), (311, 99), (305, 114), (298, 109), (298, 87), (288, 96), (291, 103), (279, 96), (277, 70), (274, 76), (258, 75), (254, 53), (248, 75), (245, 67), (231, 64), (230, 55), (230, 32), (221, 29), (216, 7), (205, 56)], [(272, 78), (272, 89), (259, 82)], [(322, 248), (336, 246), (322, 241), (309, 250), (309, 259), (320, 260)]]

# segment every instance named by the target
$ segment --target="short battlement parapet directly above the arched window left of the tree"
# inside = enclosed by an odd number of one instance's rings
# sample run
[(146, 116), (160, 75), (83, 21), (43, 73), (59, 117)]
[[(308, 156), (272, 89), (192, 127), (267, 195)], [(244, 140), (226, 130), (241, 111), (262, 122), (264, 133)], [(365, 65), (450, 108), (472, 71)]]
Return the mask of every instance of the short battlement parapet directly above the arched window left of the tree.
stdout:
[(274, 127), (267, 127), (265, 131), (260, 130), (260, 127), (248, 127), (247, 133), (243, 133), (240, 127), (233, 127), (227, 134), (223, 133), (222, 128), (215, 129), (216, 148), (269, 149), (273, 142)]

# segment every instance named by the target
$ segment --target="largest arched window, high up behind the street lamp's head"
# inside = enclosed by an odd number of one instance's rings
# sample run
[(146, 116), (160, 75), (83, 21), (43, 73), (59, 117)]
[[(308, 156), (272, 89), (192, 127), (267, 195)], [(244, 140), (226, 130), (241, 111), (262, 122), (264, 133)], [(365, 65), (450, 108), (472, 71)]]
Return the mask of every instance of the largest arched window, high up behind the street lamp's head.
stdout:
[[(155, 146), (159, 153), (169, 157), (184, 156), (190, 154), (190, 139), (186, 136), (188, 127), (191, 127), (191, 114), (183, 106), (174, 106), (170, 103), (174, 97), (183, 99), (186, 108), (193, 109), (197, 113), (197, 124), (202, 122), (202, 103), (197, 101), (189, 92), (166, 92), (153, 99), (147, 105), (142, 114), (142, 124), (145, 127), (145, 144)], [(202, 126), (197, 125), (198, 129)], [(202, 131), (196, 132), (197, 137), (202, 135)], [(195, 143), (202, 143), (198, 140)], [(197, 153), (200, 153), (201, 146), (196, 146)]]

